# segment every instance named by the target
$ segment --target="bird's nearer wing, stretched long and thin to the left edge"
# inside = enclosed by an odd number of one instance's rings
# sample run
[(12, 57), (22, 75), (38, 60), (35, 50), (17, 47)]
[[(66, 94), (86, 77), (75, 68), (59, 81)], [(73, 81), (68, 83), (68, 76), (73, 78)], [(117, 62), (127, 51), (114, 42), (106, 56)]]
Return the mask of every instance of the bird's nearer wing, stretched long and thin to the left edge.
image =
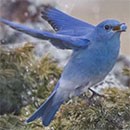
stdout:
[(43, 40), (49, 40), (54, 46), (60, 49), (77, 49), (81, 47), (86, 47), (90, 43), (90, 41), (83, 36), (76, 37), (76, 36), (62, 35), (62, 34), (56, 34), (47, 31), (31, 29), (24, 25), (11, 22), (3, 18), (0, 18), (0, 22), (9, 25), (11, 28), (26, 33), (30, 36), (43, 39)]

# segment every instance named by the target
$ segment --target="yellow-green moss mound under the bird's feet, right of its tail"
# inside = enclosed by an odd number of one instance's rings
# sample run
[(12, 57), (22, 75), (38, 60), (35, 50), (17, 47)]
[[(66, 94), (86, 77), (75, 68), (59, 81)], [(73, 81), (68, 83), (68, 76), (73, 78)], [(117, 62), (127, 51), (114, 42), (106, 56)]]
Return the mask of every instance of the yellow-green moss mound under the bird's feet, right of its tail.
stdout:
[(55, 129), (130, 129), (130, 89), (109, 88), (104, 93), (106, 98), (97, 97), (92, 104), (87, 98), (65, 104), (53, 121)]

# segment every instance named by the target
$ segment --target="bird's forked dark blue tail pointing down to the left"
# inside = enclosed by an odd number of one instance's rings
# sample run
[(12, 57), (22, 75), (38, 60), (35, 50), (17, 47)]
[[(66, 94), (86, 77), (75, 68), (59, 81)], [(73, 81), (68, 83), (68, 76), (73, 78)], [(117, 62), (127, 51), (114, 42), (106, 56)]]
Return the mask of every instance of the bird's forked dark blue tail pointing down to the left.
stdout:
[(43, 125), (48, 126), (63, 103), (61, 99), (56, 102), (54, 101), (55, 94), (56, 91), (53, 91), (45, 103), (42, 104), (39, 109), (26, 120), (26, 123), (32, 122), (33, 120), (41, 117)]

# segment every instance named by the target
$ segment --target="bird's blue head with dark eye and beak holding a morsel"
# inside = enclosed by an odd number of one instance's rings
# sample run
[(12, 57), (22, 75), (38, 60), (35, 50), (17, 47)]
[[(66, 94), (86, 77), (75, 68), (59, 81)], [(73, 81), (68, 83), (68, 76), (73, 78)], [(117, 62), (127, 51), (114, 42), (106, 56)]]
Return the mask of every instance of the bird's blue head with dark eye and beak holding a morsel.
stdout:
[(117, 20), (105, 20), (96, 26), (96, 34), (98, 38), (109, 40), (113, 36), (119, 38), (120, 33), (126, 31), (125, 23), (120, 23)]

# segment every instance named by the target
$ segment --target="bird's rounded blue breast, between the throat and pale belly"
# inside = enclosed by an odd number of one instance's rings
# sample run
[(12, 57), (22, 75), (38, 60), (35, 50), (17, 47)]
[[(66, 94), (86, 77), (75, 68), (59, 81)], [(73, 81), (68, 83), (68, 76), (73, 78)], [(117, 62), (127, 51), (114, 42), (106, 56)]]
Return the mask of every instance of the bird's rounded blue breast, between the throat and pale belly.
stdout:
[(105, 45), (78, 50), (73, 53), (63, 75), (72, 80), (104, 78), (113, 68), (118, 53), (118, 46)]

